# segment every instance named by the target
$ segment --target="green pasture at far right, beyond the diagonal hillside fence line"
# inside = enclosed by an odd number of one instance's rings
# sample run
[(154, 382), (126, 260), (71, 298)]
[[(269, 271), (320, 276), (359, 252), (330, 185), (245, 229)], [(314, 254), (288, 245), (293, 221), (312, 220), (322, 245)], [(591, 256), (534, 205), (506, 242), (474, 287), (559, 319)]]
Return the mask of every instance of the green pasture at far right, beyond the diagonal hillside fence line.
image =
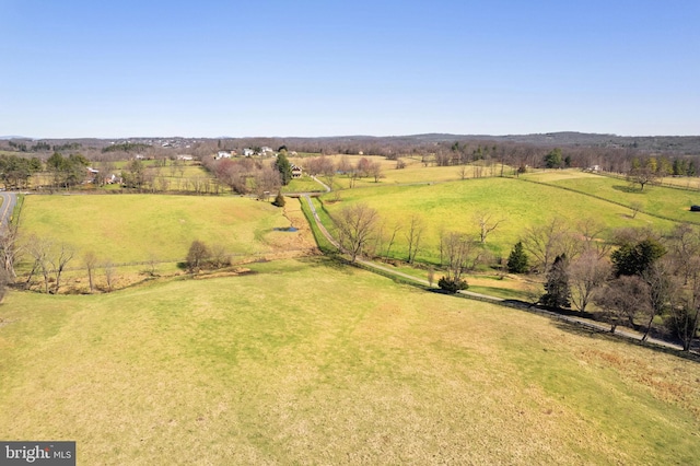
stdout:
[(642, 206), (642, 212), (673, 219), (677, 222), (700, 223), (700, 215), (696, 212), (690, 212), (690, 206), (700, 203), (700, 191), (695, 189), (646, 185), (642, 191), (639, 185), (631, 185), (622, 178), (594, 175), (574, 170), (528, 174), (523, 178), (575, 189), (620, 202), (625, 206), (639, 202)]

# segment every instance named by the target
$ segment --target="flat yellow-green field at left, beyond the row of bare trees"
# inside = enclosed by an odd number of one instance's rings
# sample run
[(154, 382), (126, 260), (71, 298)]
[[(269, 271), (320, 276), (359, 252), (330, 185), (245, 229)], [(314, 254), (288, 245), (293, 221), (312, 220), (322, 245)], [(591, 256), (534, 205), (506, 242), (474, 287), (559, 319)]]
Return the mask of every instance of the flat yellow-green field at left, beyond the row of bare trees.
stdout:
[[(21, 241), (32, 235), (117, 264), (183, 260), (195, 240), (229, 254), (267, 253), (290, 226), (281, 209), (238, 197), (26, 196)], [(289, 233), (287, 233), (289, 235)], [(28, 260), (28, 258), (27, 258)]]

